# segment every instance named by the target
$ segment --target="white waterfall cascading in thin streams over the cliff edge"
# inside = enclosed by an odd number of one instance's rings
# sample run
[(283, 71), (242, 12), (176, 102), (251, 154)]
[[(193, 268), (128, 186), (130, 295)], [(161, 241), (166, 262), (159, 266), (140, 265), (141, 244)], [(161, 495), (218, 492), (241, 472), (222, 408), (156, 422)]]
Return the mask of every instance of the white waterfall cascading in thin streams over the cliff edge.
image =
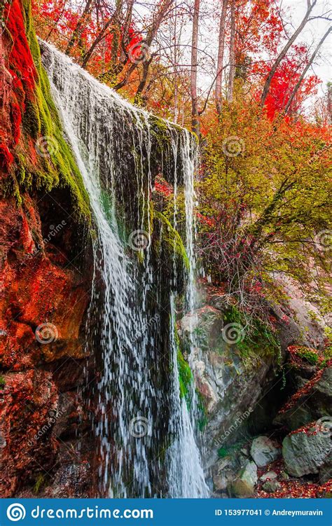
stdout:
[[(175, 317), (179, 271), (174, 254), (172, 275), (165, 276), (152, 242), (153, 179), (162, 172), (175, 195), (184, 185), (186, 305), (192, 310), (193, 137), (162, 121), (165, 145), (160, 148), (156, 130), (160, 123), (152, 116), (53, 46), (41, 43), (41, 47), (96, 229), (88, 340), (101, 357), (96, 363), (100, 374), (95, 417), (99, 491), (108, 497), (207, 497), (192, 410), (179, 388)], [(129, 235), (128, 220), (133, 225)], [(193, 386), (191, 391), (194, 405)]]

